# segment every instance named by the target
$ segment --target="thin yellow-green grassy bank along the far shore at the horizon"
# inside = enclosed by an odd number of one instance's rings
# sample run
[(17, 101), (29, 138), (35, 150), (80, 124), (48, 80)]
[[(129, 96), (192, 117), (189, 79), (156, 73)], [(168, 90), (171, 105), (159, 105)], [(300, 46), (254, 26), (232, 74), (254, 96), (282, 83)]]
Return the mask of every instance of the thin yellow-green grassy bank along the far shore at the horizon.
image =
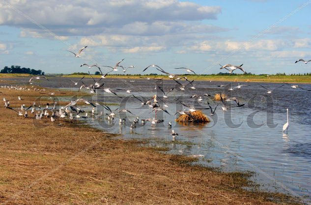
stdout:
[[(63, 75), (62, 77), (82, 78), (83, 75)], [(90, 77), (90, 76), (85, 76)], [(100, 76), (95, 76), (100, 78)], [(121, 78), (121, 79), (139, 79), (143, 78), (163, 78), (168, 79), (164, 75), (107, 75), (107, 78)], [(187, 78), (191, 80), (201, 81), (230, 81), (230, 82), (266, 82), (266, 83), (311, 83), (311, 76), (287, 76), (287, 75), (188, 75)]]

